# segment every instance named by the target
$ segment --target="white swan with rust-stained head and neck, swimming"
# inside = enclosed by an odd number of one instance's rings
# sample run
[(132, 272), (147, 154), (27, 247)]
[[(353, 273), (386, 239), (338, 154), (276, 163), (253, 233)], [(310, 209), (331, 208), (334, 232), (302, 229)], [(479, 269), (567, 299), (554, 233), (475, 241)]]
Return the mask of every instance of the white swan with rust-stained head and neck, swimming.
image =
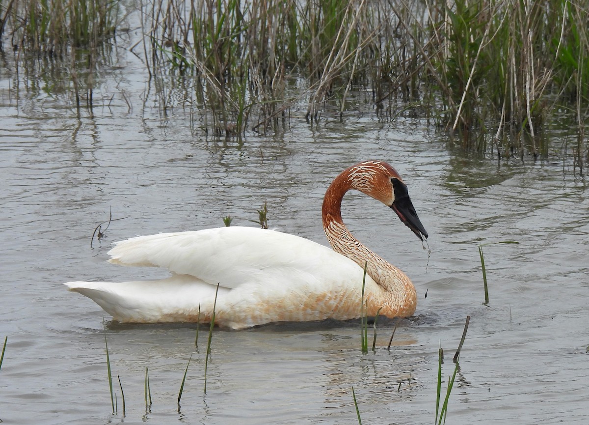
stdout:
[(340, 206), (350, 189), (391, 207), (422, 241), (428, 237), (401, 176), (386, 162), (366, 161), (343, 170), (325, 193), (323, 229), (333, 249), (287, 233), (240, 226), (137, 236), (116, 242), (109, 262), (165, 267), (171, 277), (65, 285), (118, 322), (210, 323), (214, 309), (215, 324), (240, 329), (359, 318), (366, 265), (366, 314), (409, 317), (417, 303), (411, 280), (356, 240), (343, 223)]

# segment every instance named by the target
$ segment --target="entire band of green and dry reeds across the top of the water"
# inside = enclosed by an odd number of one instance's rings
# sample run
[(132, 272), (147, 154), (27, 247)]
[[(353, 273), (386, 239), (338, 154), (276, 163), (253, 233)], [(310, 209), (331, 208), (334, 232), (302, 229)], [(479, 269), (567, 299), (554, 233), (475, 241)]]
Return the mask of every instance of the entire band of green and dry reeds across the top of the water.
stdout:
[[(142, 37), (131, 51), (143, 57), (161, 110), (185, 108), (208, 134), (275, 131), (289, 125), (293, 106), (306, 108), (310, 124), (363, 107), (382, 120), (426, 118), (464, 149), (542, 157), (558, 111), (576, 123), (567, 146), (575, 167), (589, 160), (584, 2), (152, 0), (138, 7)], [(21, 50), (72, 63), (84, 48), (95, 65), (127, 14), (118, 0), (11, 0), (2, 2), (0, 31)], [(92, 72), (84, 78), (91, 86)], [(72, 81), (82, 87), (79, 75)], [(91, 93), (85, 98), (91, 107)]]

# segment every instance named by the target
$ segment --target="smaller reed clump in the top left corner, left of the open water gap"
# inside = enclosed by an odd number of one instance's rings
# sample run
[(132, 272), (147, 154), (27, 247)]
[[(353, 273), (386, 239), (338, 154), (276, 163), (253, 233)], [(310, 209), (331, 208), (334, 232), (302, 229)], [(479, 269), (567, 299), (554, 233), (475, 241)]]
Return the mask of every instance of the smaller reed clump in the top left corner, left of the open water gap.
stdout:
[[(125, 13), (112, 0), (9, 0), (0, 2), (0, 49), (9, 45), (25, 74), (52, 70), (47, 89), (67, 93), (78, 117), (92, 111), (102, 62)], [(65, 71), (64, 71), (65, 70)]]

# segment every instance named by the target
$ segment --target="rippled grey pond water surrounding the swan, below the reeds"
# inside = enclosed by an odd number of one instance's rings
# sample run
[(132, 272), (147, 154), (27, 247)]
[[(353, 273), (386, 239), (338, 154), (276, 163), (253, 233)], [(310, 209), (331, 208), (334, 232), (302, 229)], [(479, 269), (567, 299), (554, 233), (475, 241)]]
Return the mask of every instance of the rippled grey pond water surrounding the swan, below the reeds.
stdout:
[[(589, 192), (568, 160), (498, 165), (449, 150), (446, 136), (420, 120), (383, 123), (370, 113), (340, 123), (327, 112), (309, 127), (305, 111), (293, 111), (292, 129), (277, 136), (207, 139), (181, 110), (160, 117), (132, 58), (105, 73), (105, 106), (77, 118), (67, 99), (25, 90), (10, 68), (0, 75), (4, 423), (355, 424), (353, 387), (363, 423), (430, 424), (438, 348), (446, 381), (467, 315), (449, 423), (589, 421)], [(117, 87), (112, 99), (108, 87)], [(62, 285), (163, 277), (105, 263), (110, 243), (222, 226), (227, 215), (233, 225), (255, 226), (249, 220), (264, 202), (270, 227), (327, 244), (323, 193), (365, 159), (396, 167), (430, 235), (428, 254), (390, 209), (345, 197), (355, 236), (418, 290), (417, 317), (400, 322), (390, 351), (392, 321), (379, 325), (368, 355), (357, 324), (215, 330), (203, 394), (206, 330), (195, 349), (194, 325), (111, 323)], [(92, 242), (110, 213), (120, 220)], [(484, 246), (485, 306), (478, 245), (505, 240), (518, 244)]]

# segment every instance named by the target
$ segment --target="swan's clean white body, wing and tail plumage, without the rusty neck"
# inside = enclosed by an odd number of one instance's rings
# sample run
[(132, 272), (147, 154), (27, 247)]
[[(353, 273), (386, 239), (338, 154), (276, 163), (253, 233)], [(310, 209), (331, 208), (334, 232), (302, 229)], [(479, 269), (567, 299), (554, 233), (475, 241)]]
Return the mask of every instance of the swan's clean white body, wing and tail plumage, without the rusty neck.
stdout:
[[(137, 236), (117, 242), (108, 253), (115, 264), (157, 266), (174, 274), (158, 281), (65, 284), (120, 322), (195, 321), (199, 305), (203, 317), (212, 311), (219, 284), (217, 321), (235, 328), (252, 326), (275, 321), (272, 311), (260, 312), (260, 306), (276, 304), (280, 317), (292, 308), (286, 303), (305, 305), (309, 297), (337, 296), (350, 286), (358, 288), (363, 278), (355, 262), (326, 246), (259, 228), (231, 226)], [(367, 285), (376, 285), (370, 276), (366, 279)], [(359, 302), (358, 298), (358, 311)], [(252, 308), (260, 319), (247, 319)], [(306, 314), (309, 320), (329, 317), (329, 312)]]

